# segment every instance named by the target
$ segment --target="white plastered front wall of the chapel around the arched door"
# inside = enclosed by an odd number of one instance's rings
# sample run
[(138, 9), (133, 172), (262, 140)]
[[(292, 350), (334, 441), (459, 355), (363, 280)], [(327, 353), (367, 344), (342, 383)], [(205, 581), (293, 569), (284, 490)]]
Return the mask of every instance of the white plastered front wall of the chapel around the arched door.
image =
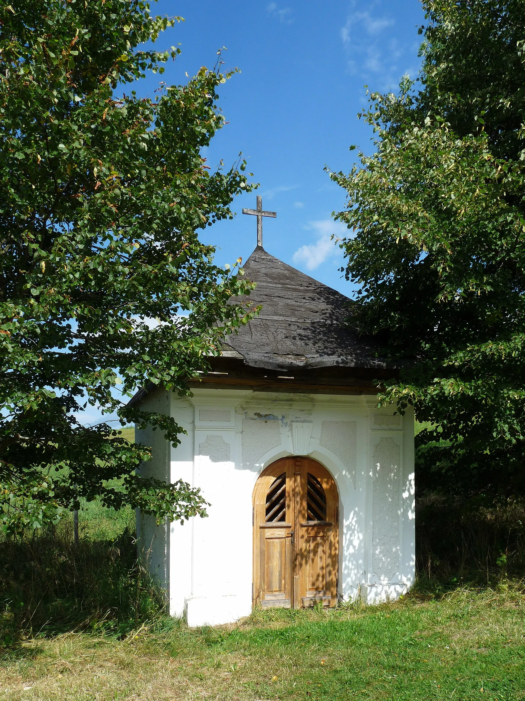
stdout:
[[(253, 487), (267, 465), (303, 452), (325, 465), (339, 490), (339, 596), (372, 603), (394, 599), (412, 584), (410, 411), (404, 417), (391, 408), (378, 411), (375, 397), (162, 394), (188, 433), (169, 451), (169, 475), (200, 486), (210, 503), (207, 518), (169, 526), (165, 581), (172, 615), (184, 615), (188, 625), (217, 625), (250, 613)], [(156, 571), (158, 559), (151, 557)]]

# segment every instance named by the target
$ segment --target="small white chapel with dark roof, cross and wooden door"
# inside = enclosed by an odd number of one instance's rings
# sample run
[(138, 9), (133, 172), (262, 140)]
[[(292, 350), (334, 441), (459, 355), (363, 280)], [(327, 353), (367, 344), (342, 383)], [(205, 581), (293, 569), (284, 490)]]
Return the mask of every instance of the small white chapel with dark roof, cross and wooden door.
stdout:
[(253, 606), (395, 599), (414, 581), (414, 416), (377, 409), (393, 364), (344, 324), (344, 295), (258, 245), (246, 261), (257, 318), (226, 339), (192, 397), (151, 386), (131, 400), (187, 431), (152, 447), (141, 474), (200, 486), (208, 517), (158, 526), (137, 515), (139, 547), (188, 625)]

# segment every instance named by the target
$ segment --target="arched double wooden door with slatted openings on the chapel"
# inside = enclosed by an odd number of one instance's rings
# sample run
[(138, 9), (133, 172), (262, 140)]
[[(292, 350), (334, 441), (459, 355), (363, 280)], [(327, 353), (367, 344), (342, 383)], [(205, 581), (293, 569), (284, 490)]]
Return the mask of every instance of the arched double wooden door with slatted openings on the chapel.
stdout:
[(269, 465), (253, 490), (253, 601), (262, 608), (335, 606), (339, 496), (311, 458)]

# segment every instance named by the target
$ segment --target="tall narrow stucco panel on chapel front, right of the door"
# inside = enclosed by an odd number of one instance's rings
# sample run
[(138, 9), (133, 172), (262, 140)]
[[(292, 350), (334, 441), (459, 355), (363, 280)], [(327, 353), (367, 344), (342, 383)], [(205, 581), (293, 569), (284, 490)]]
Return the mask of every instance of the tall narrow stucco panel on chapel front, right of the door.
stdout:
[(372, 571), (390, 580), (399, 571), (400, 447), (381, 438), (372, 454)]

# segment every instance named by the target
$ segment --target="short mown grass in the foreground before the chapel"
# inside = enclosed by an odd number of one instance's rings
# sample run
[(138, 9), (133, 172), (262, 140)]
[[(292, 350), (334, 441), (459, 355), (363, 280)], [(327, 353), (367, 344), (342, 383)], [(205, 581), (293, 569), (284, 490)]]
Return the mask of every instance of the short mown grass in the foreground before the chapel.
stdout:
[(514, 701), (525, 698), (524, 613), (524, 594), (499, 587), (255, 611), (215, 629), (159, 616), (124, 639), (37, 636), (6, 651), (0, 699)]

